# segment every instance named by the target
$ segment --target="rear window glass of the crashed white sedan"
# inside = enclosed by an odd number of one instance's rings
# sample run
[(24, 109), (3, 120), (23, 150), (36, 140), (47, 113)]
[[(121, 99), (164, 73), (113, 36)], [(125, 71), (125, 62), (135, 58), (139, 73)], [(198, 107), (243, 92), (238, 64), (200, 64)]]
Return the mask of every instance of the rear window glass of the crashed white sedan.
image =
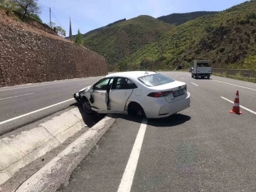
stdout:
[(156, 73), (153, 75), (146, 75), (139, 77), (138, 80), (142, 82), (144, 85), (148, 87), (154, 87), (159, 85), (164, 85), (169, 82), (174, 82), (175, 80), (166, 77), (165, 75), (162, 75), (160, 73)]

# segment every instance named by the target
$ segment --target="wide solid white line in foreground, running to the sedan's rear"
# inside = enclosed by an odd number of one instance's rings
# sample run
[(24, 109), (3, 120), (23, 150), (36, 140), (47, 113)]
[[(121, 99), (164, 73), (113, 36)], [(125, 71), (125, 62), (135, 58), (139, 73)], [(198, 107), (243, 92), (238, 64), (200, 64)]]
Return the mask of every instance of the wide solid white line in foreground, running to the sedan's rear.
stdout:
[(139, 153), (142, 149), (142, 143), (144, 139), (144, 135), (146, 132), (146, 124), (147, 119), (142, 120), (142, 124), (139, 127), (139, 132), (137, 134), (137, 138), (134, 142), (134, 146), (132, 148), (132, 152), (129, 156), (129, 160), (127, 166), (124, 170), (124, 175), (122, 176), (122, 181), (119, 185), (117, 192), (129, 192), (132, 188), (132, 181), (134, 179), (134, 174), (137, 168), (137, 163), (139, 160)]

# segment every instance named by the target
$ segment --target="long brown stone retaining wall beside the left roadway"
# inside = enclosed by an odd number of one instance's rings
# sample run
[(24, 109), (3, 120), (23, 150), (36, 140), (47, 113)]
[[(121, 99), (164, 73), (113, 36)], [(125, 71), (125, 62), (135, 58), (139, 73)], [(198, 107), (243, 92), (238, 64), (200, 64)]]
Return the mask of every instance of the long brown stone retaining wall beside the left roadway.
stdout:
[(0, 87), (106, 74), (105, 58), (85, 47), (0, 22)]

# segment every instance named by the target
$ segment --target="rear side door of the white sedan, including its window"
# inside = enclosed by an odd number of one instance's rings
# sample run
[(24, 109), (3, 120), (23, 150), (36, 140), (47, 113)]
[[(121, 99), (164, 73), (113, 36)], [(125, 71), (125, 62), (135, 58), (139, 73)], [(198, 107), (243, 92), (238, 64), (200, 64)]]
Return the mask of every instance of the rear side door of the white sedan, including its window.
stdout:
[(124, 107), (137, 86), (127, 78), (114, 78), (110, 90), (110, 110), (124, 112)]

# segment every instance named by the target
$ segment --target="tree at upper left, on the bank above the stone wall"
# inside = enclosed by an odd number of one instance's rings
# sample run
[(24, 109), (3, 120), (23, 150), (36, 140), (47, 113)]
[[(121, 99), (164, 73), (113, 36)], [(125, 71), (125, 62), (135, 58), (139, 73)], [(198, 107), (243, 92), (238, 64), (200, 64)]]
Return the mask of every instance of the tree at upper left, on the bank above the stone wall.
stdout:
[(13, 0), (17, 4), (18, 11), (23, 17), (29, 14), (41, 14), (41, 10), (36, 1), (38, 0)]

